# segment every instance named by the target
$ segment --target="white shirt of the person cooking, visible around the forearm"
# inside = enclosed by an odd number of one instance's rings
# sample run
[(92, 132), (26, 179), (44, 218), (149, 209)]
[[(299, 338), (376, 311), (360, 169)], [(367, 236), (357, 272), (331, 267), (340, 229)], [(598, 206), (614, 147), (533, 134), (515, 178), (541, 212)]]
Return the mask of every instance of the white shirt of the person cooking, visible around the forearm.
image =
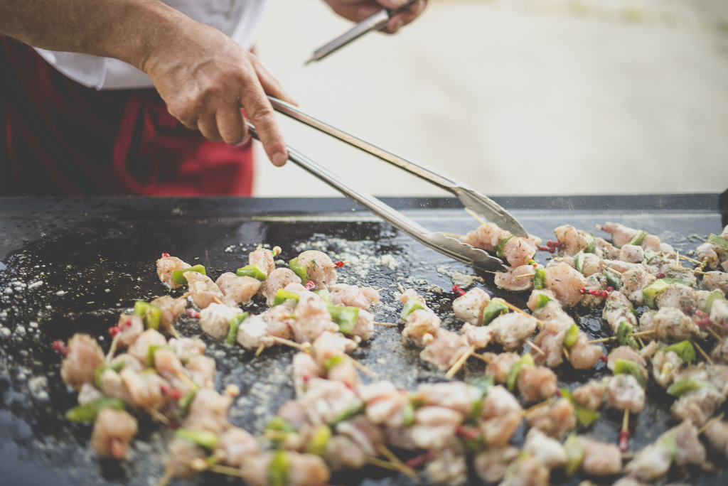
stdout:
[[(265, 0), (161, 0), (198, 22), (230, 36), (238, 44), (253, 47)], [(54, 68), (76, 82), (96, 89), (141, 89), (154, 85), (134, 66), (111, 57), (78, 52), (36, 51)]]

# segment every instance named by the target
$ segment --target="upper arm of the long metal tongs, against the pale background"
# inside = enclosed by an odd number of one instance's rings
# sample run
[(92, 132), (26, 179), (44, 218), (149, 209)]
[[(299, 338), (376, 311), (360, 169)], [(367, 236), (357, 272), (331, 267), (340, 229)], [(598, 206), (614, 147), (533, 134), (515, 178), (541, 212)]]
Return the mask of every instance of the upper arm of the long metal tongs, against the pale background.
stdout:
[(482, 215), (483, 218), (486, 218), (486, 220), (496, 223), (501, 228), (507, 229), (516, 236), (528, 238), (529, 235), (526, 233), (523, 226), (521, 226), (521, 223), (519, 223), (517, 219), (513, 218), (513, 216), (510, 215), (510, 213), (507, 212), (500, 204), (494, 202), (488, 196), (480, 194), (480, 192), (475, 191), (475, 189), (467, 186), (459, 180), (450, 178), (442, 172), (432, 170), (429, 167), (419, 164), (419, 162), (407, 159), (404, 156), (397, 155), (384, 148), (376, 146), (373, 143), (362, 140), (355, 135), (344, 132), (344, 130), (340, 130), (304, 113), (299, 108), (296, 108), (296, 106), (285, 103), (285, 101), (278, 100), (271, 96), (269, 96), (268, 99), (271, 101), (273, 108), (276, 111), (280, 111), (280, 113), (290, 116), (291, 118), (298, 120), (298, 122), (302, 122), (309, 125), (309, 127), (313, 127), (331, 135), (333, 138), (338, 138), (351, 146), (355, 146), (356, 148), (360, 148), (373, 156), (379, 157), (379, 159), (384, 160), (384, 162), (389, 162), (390, 164), (400, 167), (400, 169), (404, 169), (419, 178), (427, 180), (427, 182), (430, 182), (435, 186), (457, 196), (464, 207), (477, 212), (479, 215)]

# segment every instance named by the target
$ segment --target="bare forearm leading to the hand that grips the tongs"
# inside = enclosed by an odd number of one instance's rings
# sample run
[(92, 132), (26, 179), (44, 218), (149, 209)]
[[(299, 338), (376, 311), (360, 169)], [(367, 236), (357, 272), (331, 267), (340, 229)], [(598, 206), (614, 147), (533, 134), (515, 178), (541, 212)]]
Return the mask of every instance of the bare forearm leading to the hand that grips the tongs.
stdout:
[(115, 57), (143, 70), (189, 17), (158, 0), (0, 0), (0, 33), (43, 49)]

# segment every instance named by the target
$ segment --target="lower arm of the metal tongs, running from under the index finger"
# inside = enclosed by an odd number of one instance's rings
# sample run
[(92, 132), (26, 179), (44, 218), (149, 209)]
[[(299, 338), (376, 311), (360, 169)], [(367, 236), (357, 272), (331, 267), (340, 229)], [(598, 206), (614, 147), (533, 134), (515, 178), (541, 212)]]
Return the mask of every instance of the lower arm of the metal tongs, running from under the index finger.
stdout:
[[(248, 122), (248, 120), (245, 122), (248, 124), (250, 136), (256, 140), (260, 140), (258, 139), (256, 127)], [(467, 263), (475, 268), (508, 271), (507, 266), (505, 266), (499, 258), (492, 257), (483, 250), (474, 248), (470, 246), (470, 244), (463, 243), (457, 239), (451, 238), (450, 236), (446, 236), (445, 234), (432, 233), (423, 226), (420, 226), (418, 223), (415, 223), (410, 218), (402, 215), (400, 212), (393, 210), (391, 207), (387, 206), (387, 204), (376, 199), (376, 197), (349, 186), (349, 184), (344, 182), (344, 180), (339, 178), (339, 176), (324, 167), (321, 167), (316, 162), (304, 156), (304, 154), (301, 154), (288, 146), (286, 148), (288, 149), (288, 159), (291, 162), (297, 164), (312, 175), (315, 175), (320, 180), (323, 180), (329, 186), (335, 188), (337, 191), (341, 192), (341, 194), (344, 194), (344, 196), (347, 196), (360, 206), (365, 207), (367, 210), (373, 212), (375, 215), (379, 216), (379, 218), (387, 221), (387, 223), (391, 224), (400, 231), (403, 231), (408, 236), (411, 236), (418, 242), (432, 248), (432, 250), (436, 250), (443, 255), (447, 255), (450, 258)]]

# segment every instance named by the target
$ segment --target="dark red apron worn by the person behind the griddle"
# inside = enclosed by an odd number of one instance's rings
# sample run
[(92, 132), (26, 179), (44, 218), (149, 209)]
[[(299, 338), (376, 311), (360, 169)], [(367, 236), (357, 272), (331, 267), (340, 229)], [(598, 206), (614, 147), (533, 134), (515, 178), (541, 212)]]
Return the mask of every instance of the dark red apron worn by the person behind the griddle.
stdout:
[(205, 140), (156, 89), (97, 91), (0, 35), (0, 196), (250, 196), (253, 151)]

